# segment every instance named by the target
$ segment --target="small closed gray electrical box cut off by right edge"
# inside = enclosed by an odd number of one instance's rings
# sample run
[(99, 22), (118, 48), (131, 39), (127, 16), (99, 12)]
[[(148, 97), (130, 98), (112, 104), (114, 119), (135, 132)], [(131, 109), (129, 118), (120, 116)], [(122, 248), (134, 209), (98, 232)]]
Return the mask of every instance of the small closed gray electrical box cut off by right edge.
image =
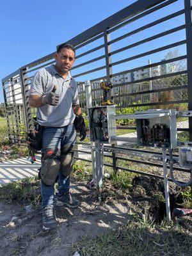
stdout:
[(179, 164), (182, 168), (192, 168), (192, 148), (179, 148)]

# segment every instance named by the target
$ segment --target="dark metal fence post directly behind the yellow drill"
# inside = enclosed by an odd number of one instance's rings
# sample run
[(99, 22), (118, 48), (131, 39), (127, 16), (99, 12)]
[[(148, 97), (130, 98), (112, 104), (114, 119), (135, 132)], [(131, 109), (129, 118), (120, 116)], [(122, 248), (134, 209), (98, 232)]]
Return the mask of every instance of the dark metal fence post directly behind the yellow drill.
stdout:
[[(105, 54), (106, 54), (106, 75), (108, 82), (112, 83), (111, 75), (113, 74), (113, 70), (111, 67), (111, 45), (110, 45), (110, 34), (108, 30), (104, 31), (104, 44), (105, 44)], [(111, 92), (110, 95), (111, 96)], [(115, 148), (116, 143), (111, 144), (113, 148)], [(115, 152), (112, 153), (113, 157), (113, 172), (116, 174), (117, 169), (116, 169), (116, 156)]]

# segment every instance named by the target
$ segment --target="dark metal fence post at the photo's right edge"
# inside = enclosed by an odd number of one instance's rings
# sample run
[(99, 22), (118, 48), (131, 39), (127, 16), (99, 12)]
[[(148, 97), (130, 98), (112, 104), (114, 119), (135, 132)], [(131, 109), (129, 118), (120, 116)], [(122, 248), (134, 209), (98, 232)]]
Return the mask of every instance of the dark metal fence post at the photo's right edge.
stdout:
[[(192, 111), (192, 30), (191, 30), (191, 0), (184, 0), (186, 19), (186, 49), (188, 60), (188, 110)], [(189, 117), (189, 141), (192, 141), (192, 117)]]

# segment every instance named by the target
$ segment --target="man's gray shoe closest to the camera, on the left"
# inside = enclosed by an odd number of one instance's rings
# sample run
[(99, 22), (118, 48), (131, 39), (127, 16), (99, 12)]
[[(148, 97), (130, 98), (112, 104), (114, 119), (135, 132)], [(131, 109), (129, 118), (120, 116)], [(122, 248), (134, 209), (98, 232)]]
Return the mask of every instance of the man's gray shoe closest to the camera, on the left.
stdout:
[(43, 230), (49, 231), (56, 227), (58, 227), (58, 221), (56, 221), (54, 207), (53, 205), (48, 205), (43, 208)]

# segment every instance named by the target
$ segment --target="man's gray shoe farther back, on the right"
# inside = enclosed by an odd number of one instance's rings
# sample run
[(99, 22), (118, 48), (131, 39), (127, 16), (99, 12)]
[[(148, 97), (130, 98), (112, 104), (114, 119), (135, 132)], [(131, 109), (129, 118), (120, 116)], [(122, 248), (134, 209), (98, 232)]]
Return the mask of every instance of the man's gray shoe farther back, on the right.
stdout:
[(74, 196), (71, 196), (69, 192), (63, 193), (63, 195), (56, 195), (56, 205), (58, 206), (67, 206), (70, 208), (76, 208), (80, 204)]

